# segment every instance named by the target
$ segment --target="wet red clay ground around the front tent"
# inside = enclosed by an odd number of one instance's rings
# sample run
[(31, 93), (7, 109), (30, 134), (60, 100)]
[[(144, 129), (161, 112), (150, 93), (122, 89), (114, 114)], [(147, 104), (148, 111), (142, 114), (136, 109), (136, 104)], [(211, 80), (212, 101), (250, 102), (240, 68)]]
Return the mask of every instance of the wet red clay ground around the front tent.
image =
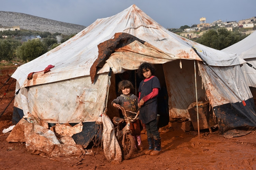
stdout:
[[(2, 86), (14, 69), (0, 71)], [(1, 99), (9, 83), (0, 90)], [(0, 113), (14, 93), (15, 82), (0, 102)], [(230, 139), (208, 131), (200, 132), (199, 136), (195, 131), (161, 133), (163, 152), (158, 156), (144, 155), (144, 150), (115, 165), (108, 162), (101, 147), (94, 147), (94, 155), (85, 155), (80, 165), (69, 166), (31, 154), (25, 143), (7, 143), (9, 133), (3, 134), (2, 130), (12, 125), (12, 112), (13, 102), (0, 117), (0, 170), (256, 170), (256, 131)], [(142, 142), (147, 148), (147, 135), (142, 134)]]

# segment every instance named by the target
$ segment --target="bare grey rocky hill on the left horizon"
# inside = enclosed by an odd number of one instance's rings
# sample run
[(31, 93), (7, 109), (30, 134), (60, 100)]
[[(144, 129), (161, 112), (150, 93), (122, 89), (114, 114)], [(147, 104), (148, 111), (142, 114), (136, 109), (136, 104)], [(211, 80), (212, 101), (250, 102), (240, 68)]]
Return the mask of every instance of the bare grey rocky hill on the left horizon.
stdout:
[(85, 26), (41, 18), (24, 13), (0, 11), (0, 26), (20, 26), (20, 29), (48, 31), (71, 35), (79, 33)]

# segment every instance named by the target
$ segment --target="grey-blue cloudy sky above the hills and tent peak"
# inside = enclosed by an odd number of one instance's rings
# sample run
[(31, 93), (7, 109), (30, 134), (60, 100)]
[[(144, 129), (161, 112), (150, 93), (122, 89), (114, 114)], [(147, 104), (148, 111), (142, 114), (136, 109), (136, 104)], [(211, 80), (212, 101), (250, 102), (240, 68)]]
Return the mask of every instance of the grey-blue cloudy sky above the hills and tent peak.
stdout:
[(0, 0), (0, 11), (18, 12), (71, 24), (91, 25), (135, 4), (165, 28), (256, 16), (256, 0)]

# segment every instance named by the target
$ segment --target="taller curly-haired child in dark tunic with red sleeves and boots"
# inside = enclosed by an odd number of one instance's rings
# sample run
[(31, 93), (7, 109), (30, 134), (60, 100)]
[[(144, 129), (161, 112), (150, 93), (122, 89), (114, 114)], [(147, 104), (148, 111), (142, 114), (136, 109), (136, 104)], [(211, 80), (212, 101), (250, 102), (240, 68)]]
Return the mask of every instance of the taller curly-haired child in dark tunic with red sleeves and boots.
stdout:
[[(139, 119), (146, 124), (148, 150), (147, 155), (156, 156), (161, 152), (161, 138), (157, 128), (157, 96), (160, 90), (160, 82), (154, 76), (154, 67), (147, 62), (139, 66), (139, 77), (144, 80), (139, 84)], [(153, 146), (154, 144), (154, 146)]]

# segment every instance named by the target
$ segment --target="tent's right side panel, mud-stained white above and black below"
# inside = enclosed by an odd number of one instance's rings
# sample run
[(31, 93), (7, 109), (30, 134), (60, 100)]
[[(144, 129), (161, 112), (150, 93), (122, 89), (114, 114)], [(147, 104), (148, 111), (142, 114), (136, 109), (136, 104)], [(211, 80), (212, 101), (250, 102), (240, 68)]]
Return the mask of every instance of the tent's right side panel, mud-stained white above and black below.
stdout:
[[(252, 130), (255, 128), (254, 101), (240, 66), (216, 67), (198, 62), (198, 68), (202, 74), (206, 95), (218, 118), (221, 134), (224, 135), (232, 129)], [(243, 105), (243, 100), (246, 106)], [(239, 133), (234, 133), (234, 136), (237, 135)]]

